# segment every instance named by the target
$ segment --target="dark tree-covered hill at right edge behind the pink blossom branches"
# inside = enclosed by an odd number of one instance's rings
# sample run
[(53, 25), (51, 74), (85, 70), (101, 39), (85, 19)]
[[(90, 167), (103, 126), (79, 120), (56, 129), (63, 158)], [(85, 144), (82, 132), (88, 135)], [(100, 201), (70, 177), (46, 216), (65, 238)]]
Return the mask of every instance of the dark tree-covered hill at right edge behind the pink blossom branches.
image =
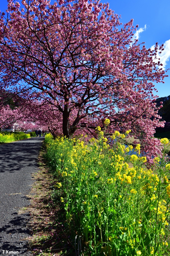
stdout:
[(163, 121), (170, 122), (170, 95), (156, 99), (156, 107), (161, 105), (161, 101), (163, 102), (163, 107), (159, 109), (158, 114), (162, 116)]

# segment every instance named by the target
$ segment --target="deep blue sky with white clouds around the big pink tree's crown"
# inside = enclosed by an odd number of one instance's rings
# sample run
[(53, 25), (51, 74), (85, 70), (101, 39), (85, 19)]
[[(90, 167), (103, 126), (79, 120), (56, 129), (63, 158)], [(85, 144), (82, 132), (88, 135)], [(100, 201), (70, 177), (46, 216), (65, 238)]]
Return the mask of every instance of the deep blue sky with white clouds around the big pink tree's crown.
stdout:
[[(19, 0), (20, 2), (21, 0)], [(107, 2), (101, 0), (102, 3)], [(136, 36), (139, 42), (145, 42), (147, 48), (151, 48), (158, 42), (164, 44), (165, 50), (160, 58), (164, 69), (170, 68), (170, 1), (158, 0), (108, 0), (110, 8), (117, 14), (121, 14), (122, 23), (134, 19), (134, 25), (139, 25)], [(0, 0), (0, 10), (3, 12), (7, 9), (7, 0)], [(165, 78), (165, 83), (156, 84), (159, 97), (170, 95), (170, 70)]]

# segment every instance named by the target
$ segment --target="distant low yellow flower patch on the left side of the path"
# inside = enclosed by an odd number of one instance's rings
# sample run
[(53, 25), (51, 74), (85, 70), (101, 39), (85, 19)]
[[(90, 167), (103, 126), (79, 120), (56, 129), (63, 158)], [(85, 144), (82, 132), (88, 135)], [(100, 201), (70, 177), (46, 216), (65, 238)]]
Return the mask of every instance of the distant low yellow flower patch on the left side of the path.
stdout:
[(30, 134), (24, 132), (0, 132), (0, 143), (19, 141), (30, 137)]

